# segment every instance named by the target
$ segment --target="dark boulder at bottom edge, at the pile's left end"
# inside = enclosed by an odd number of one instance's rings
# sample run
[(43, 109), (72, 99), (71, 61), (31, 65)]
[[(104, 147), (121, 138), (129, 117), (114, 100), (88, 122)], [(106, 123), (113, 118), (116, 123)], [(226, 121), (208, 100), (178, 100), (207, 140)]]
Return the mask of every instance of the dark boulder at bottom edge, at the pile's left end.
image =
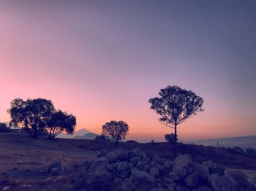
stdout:
[(96, 171), (86, 176), (87, 190), (110, 190), (111, 174), (107, 171)]

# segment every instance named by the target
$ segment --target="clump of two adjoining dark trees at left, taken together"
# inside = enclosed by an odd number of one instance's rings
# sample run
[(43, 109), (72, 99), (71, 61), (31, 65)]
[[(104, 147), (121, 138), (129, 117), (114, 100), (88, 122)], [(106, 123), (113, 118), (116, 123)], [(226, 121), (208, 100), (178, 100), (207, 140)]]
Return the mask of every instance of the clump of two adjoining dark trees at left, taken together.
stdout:
[(73, 133), (76, 119), (72, 114), (56, 111), (52, 101), (37, 98), (15, 98), (7, 111), (10, 113), (10, 125), (23, 126), (31, 137), (38, 138), (39, 133), (48, 132), (48, 138), (54, 139), (62, 131)]

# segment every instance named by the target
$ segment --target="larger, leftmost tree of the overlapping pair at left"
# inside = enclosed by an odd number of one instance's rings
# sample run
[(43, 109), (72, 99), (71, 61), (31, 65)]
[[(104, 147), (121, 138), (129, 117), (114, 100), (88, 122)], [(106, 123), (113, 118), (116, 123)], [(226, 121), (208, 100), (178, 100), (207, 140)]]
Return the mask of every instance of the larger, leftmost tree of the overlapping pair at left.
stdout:
[(38, 133), (44, 131), (50, 120), (51, 114), (55, 111), (53, 103), (43, 98), (23, 99), (16, 98), (11, 102), (10, 125), (23, 125), (31, 137), (38, 138)]

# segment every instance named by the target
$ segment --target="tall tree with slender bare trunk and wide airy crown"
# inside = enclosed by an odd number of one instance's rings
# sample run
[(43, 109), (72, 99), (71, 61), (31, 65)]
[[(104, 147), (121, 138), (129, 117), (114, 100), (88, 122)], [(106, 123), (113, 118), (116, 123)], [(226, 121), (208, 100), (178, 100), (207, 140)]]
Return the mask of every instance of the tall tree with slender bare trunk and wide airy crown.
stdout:
[(174, 128), (177, 142), (177, 126), (197, 112), (203, 111), (203, 98), (191, 90), (178, 86), (167, 86), (159, 92), (160, 97), (149, 99), (151, 109), (161, 117), (159, 121), (167, 127)]

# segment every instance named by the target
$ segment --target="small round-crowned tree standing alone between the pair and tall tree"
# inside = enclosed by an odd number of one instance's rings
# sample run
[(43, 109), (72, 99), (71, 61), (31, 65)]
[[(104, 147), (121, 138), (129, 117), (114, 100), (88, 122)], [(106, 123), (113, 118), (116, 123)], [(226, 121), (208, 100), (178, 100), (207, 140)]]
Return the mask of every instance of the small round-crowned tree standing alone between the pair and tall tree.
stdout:
[(102, 126), (102, 135), (115, 141), (115, 146), (118, 145), (119, 141), (125, 139), (128, 131), (129, 125), (123, 121), (110, 121)]

